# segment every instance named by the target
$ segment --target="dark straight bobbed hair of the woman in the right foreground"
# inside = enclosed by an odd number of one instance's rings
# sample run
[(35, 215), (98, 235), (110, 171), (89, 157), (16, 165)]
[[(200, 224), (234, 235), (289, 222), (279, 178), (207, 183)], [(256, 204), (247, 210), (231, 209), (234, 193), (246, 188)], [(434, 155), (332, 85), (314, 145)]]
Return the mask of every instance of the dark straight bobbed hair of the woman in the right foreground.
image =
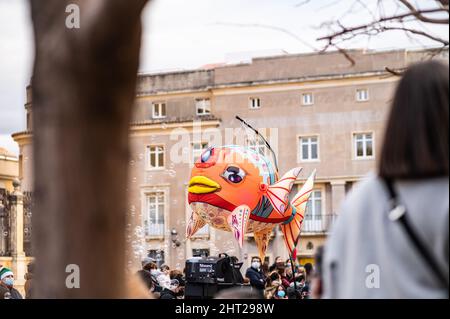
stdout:
[(379, 174), (387, 179), (448, 176), (449, 67), (436, 61), (403, 75), (387, 123)]

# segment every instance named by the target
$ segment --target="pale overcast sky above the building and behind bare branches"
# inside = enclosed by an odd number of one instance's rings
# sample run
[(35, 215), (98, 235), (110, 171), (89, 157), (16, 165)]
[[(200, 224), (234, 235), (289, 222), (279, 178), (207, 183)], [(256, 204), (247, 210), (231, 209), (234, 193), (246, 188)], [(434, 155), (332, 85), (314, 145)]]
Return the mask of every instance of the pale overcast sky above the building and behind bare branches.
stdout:
[[(327, 30), (320, 24), (342, 18), (353, 0), (153, 0), (144, 12), (141, 72), (191, 69), (224, 62), (230, 53), (285, 50), (311, 52)], [(363, 0), (375, 5), (376, 0)], [(393, 3), (394, 1), (384, 1)], [(430, 0), (417, 0), (424, 6)], [(386, 7), (386, 12), (391, 8)], [(353, 7), (343, 17), (352, 25), (370, 19), (366, 9)], [(81, 21), (81, 27), (82, 27)], [(283, 28), (288, 35), (266, 25)], [(448, 27), (430, 27), (448, 39)], [(301, 40), (299, 40), (301, 39)], [(348, 47), (391, 49), (430, 44), (411, 41), (403, 33), (390, 33)], [(10, 134), (25, 128), (25, 87), (33, 61), (33, 37), (27, 0), (0, 0), (0, 147), (17, 153)]]

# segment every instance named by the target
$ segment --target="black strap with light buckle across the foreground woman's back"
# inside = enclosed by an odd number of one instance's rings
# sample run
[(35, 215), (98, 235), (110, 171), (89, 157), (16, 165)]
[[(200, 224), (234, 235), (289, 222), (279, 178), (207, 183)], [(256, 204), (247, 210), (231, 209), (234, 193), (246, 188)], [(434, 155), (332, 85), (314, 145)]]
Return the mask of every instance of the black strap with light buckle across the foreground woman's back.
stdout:
[(431, 253), (431, 250), (427, 248), (425, 242), (420, 238), (417, 231), (414, 229), (411, 224), (406, 207), (399, 203), (397, 192), (395, 191), (394, 184), (392, 180), (383, 178), (384, 184), (389, 192), (390, 197), (390, 206), (391, 211), (389, 212), (389, 219), (393, 222), (398, 221), (402, 228), (405, 230), (405, 233), (408, 235), (410, 241), (415, 246), (416, 250), (422, 256), (422, 259), (428, 264), (430, 269), (432, 270), (435, 277), (439, 280), (439, 282), (449, 289), (449, 283), (447, 277), (442, 272), (437, 259)]

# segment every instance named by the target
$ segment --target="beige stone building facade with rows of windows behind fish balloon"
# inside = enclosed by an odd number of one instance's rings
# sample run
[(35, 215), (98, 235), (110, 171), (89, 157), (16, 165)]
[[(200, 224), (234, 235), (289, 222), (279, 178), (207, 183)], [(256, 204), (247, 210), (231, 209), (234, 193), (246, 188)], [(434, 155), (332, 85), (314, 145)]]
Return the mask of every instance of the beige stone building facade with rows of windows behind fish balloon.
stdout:
[[(130, 255), (149, 254), (183, 268), (198, 254), (228, 252), (249, 263), (257, 249), (251, 235), (239, 250), (231, 234), (206, 228), (184, 239), (190, 215), (186, 186), (193, 160), (208, 146), (260, 143), (242, 138), (238, 115), (261, 130), (278, 154), (280, 173), (301, 166), (298, 181), (317, 170), (298, 247), (302, 263), (324, 243), (341, 201), (376, 166), (382, 132), (401, 69), (428, 51), (350, 51), (354, 65), (336, 52), (256, 58), (251, 63), (141, 74), (130, 124), (128, 242)], [(447, 52), (443, 53), (444, 58)], [(31, 123), (32, 97), (26, 104)], [(32, 188), (31, 126), (14, 134), (20, 177)], [(287, 257), (276, 230), (268, 262)], [(132, 258), (131, 258), (132, 259)], [(130, 260), (130, 265), (134, 261)]]

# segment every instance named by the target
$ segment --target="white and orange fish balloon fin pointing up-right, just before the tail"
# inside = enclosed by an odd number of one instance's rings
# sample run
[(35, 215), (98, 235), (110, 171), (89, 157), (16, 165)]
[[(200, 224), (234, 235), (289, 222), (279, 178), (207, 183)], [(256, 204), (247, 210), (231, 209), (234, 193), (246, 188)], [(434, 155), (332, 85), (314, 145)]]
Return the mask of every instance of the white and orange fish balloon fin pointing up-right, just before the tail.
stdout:
[(289, 194), (301, 170), (301, 167), (291, 169), (278, 182), (265, 189), (265, 195), (281, 216), (284, 216), (289, 207)]

